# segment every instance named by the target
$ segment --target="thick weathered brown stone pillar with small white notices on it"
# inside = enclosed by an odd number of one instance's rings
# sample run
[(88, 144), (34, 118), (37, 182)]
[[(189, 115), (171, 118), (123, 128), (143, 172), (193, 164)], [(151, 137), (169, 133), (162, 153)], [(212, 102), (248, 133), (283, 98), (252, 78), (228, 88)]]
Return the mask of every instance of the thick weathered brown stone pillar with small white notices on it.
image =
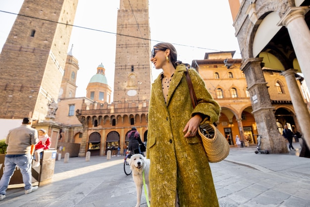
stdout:
[(258, 134), (262, 135), (262, 150), (268, 149), (270, 153), (287, 153), (285, 139), (279, 133), (274, 116), (274, 107), (271, 105), (267, 83), (263, 76), (260, 63), (262, 58), (248, 58), (241, 66), (246, 75), (248, 91)]

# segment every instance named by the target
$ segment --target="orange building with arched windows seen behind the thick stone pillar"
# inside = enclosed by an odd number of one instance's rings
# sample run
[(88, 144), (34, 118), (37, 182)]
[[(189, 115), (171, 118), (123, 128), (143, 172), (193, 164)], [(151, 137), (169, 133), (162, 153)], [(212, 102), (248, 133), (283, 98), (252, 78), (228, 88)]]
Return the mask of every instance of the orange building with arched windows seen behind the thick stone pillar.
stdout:
[[(213, 99), (221, 106), (217, 128), (225, 135), (230, 145), (235, 145), (236, 135), (245, 144), (257, 145), (258, 126), (253, 115), (246, 76), (240, 70), (242, 59), (233, 59), (232, 52), (210, 52), (203, 60), (193, 60), (195, 68), (205, 81)], [(281, 71), (262, 67), (263, 77), (276, 119), (277, 130), (290, 123), (294, 131), (299, 128), (285, 77)], [(297, 81), (299, 82), (299, 81)], [(299, 82), (301, 89), (301, 83)], [(304, 103), (306, 102), (306, 99)]]

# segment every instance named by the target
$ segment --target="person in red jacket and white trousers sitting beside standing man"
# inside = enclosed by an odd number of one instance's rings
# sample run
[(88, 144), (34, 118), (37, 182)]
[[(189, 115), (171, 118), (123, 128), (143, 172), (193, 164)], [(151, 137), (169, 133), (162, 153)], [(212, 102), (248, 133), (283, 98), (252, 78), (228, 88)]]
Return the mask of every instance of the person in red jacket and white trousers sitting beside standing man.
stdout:
[(34, 164), (34, 167), (40, 166), (40, 153), (42, 153), (44, 150), (50, 149), (52, 144), (51, 138), (44, 129), (39, 129), (38, 135), (39, 135), (39, 142), (38, 144), (36, 144), (35, 147), (36, 162)]

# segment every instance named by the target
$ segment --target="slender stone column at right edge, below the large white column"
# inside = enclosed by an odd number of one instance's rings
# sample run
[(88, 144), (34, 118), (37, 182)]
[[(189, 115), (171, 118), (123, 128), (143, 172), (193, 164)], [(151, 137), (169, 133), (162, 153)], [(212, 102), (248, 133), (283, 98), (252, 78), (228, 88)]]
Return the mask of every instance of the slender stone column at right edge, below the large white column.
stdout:
[(292, 103), (294, 106), (295, 114), (297, 121), (302, 130), (303, 138), (308, 146), (310, 146), (310, 114), (307, 108), (307, 104), (304, 101), (304, 98), (301, 94), (300, 88), (296, 82), (294, 69), (288, 69), (282, 73), (285, 77), (287, 87), (290, 92)]

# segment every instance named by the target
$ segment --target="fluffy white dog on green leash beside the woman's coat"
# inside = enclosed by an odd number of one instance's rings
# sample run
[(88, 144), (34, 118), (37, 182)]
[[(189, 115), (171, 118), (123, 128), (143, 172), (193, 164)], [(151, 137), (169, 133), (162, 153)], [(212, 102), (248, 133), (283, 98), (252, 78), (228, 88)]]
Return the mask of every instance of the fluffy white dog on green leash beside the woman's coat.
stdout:
[(130, 160), (130, 169), (132, 170), (132, 177), (136, 184), (137, 189), (137, 205), (140, 207), (141, 193), (143, 189), (143, 171), (145, 177), (145, 183), (148, 186), (149, 201), (151, 201), (150, 183), (149, 183), (149, 171), (150, 171), (150, 159), (146, 159), (143, 155), (132, 155)]

